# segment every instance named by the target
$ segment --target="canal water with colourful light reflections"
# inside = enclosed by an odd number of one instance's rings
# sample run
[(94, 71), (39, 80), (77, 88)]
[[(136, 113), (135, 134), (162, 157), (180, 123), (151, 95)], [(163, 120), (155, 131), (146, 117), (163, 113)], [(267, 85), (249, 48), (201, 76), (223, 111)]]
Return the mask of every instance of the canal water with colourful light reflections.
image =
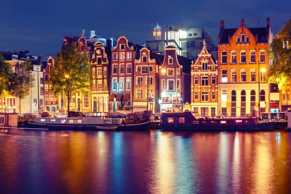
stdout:
[(0, 129), (1, 194), (290, 194), (291, 132)]

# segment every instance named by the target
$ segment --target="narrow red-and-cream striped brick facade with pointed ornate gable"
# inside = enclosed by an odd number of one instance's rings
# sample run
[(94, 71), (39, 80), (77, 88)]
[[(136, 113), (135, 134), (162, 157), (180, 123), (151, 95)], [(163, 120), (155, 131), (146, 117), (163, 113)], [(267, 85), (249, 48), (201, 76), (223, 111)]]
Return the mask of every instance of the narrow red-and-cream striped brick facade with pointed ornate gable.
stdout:
[(191, 111), (205, 117), (218, 115), (218, 62), (205, 40), (191, 65)]

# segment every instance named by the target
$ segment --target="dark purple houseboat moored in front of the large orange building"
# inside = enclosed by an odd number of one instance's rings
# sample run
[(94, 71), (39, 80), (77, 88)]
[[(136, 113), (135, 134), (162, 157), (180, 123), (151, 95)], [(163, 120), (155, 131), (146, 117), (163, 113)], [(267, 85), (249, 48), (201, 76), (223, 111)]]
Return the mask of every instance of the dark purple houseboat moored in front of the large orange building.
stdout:
[(274, 122), (258, 117), (205, 118), (194, 112), (162, 113), (164, 131), (259, 131), (274, 130)]

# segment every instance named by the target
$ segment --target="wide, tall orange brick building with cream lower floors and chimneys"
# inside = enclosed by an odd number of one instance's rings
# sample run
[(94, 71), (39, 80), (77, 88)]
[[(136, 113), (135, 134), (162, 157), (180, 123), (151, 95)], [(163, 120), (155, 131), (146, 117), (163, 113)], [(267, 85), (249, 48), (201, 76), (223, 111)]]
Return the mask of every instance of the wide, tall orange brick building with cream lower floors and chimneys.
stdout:
[(269, 67), (268, 45), (274, 37), (270, 18), (267, 26), (247, 28), (244, 20), (234, 29), (220, 22), (218, 36), (219, 114), (246, 116), (269, 112), (269, 84), (264, 79)]

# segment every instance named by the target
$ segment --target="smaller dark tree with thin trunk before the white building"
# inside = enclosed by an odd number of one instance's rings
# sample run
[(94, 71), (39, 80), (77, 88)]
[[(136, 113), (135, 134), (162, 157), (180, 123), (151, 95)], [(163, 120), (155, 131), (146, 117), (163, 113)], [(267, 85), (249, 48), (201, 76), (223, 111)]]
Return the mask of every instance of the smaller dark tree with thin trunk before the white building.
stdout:
[(26, 59), (24, 62), (17, 61), (15, 72), (8, 83), (8, 92), (11, 96), (19, 98), (19, 114), (21, 114), (21, 99), (29, 95), (30, 88), (34, 85), (31, 62)]

